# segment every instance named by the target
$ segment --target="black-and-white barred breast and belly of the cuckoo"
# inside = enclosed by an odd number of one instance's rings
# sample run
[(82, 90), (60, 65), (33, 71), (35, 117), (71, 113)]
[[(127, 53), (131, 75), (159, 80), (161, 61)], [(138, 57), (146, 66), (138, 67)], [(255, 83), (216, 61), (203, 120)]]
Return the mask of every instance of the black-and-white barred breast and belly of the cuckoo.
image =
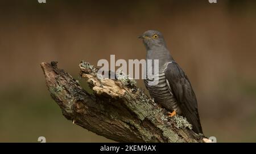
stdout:
[(172, 95), (172, 89), (166, 80), (164, 72), (158, 75), (158, 79), (159, 82), (157, 85), (148, 85), (149, 82), (153, 82), (154, 80), (148, 78), (144, 79), (144, 84), (150, 92), (151, 97), (154, 98), (156, 103), (162, 105), (167, 110), (176, 110), (176, 112), (180, 114), (179, 106), (177, 105), (175, 96)]

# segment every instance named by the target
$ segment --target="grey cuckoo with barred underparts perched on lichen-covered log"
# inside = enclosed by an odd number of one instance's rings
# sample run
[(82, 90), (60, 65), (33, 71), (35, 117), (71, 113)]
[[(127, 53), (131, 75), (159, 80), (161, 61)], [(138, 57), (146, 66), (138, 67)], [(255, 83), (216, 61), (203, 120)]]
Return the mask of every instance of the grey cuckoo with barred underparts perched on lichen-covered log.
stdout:
[(149, 30), (139, 38), (143, 39), (143, 44), (146, 46), (146, 61), (148, 59), (159, 60), (158, 84), (150, 85), (148, 83), (152, 82), (152, 79), (144, 79), (151, 97), (156, 103), (170, 111), (170, 117), (176, 113), (183, 115), (191, 123), (193, 131), (203, 134), (196, 95), (187, 75), (167, 49), (162, 33)]

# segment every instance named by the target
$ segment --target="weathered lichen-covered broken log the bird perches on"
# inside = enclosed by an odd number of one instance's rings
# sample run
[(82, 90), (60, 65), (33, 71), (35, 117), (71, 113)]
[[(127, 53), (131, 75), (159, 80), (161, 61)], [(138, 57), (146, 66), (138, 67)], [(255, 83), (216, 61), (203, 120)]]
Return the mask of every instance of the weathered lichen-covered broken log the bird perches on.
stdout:
[(85, 91), (56, 63), (41, 63), (46, 85), (63, 115), (76, 125), (117, 142), (203, 142), (184, 128), (182, 117), (169, 118), (130, 80), (98, 78), (94, 66), (81, 62), (80, 75), (91, 89)]

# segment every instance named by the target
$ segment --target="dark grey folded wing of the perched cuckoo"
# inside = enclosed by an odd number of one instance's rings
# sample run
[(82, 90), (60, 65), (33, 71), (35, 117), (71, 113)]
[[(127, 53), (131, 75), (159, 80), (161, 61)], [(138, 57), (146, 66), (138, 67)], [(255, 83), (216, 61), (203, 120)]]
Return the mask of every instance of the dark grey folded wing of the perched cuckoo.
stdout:
[(181, 109), (181, 114), (188, 119), (189, 123), (191, 123), (193, 131), (197, 134), (203, 134), (197, 110), (196, 95), (193, 92), (187, 75), (185, 75), (184, 71), (176, 62), (168, 63), (164, 73), (166, 74), (166, 79), (170, 83), (172, 92), (174, 93), (177, 103)]

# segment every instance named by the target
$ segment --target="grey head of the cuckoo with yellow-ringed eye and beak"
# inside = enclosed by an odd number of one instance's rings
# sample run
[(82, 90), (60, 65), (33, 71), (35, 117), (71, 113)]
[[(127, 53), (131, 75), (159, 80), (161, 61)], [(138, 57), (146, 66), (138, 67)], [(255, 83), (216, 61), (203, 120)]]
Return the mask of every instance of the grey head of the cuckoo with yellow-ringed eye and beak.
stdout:
[(162, 33), (154, 30), (148, 30), (144, 32), (138, 38), (142, 38), (144, 45), (147, 49), (152, 49), (154, 47), (166, 46)]

